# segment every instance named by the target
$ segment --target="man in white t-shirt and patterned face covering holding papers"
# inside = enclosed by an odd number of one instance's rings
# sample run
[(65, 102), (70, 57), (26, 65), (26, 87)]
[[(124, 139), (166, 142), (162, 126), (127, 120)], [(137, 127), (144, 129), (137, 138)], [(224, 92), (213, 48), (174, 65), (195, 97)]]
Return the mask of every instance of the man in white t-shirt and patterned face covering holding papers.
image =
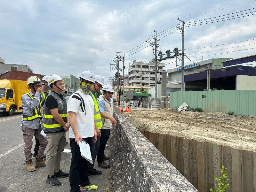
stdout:
[[(84, 71), (80, 75), (80, 86), (68, 100), (68, 113), (71, 128), (69, 129), (69, 140), (71, 147), (71, 165), (69, 170), (70, 192), (80, 190), (97, 190), (87, 176), (88, 161), (81, 156), (79, 141), (82, 139), (90, 145), (97, 140), (94, 123), (94, 103), (88, 95), (94, 83), (94, 75), (91, 71)], [(92, 153), (91, 148), (91, 153)]]

